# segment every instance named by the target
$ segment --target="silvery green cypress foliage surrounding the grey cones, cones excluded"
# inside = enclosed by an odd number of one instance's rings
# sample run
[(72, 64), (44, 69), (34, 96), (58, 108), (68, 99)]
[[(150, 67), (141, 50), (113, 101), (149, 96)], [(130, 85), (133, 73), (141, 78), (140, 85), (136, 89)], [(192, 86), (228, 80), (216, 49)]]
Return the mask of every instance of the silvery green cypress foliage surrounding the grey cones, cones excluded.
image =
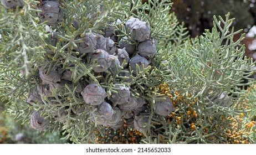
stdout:
[[(3, 100), (8, 100), (12, 106), (8, 112), (16, 116), (16, 120), (29, 122), (30, 114), (35, 110), (50, 118), (45, 131), (62, 131), (66, 138), (74, 143), (95, 143), (95, 130), (104, 135), (105, 126), (95, 125), (89, 115), (97, 109), (85, 104), (81, 90), (92, 82), (100, 84), (107, 93), (107, 100), (119, 90), (120, 86), (129, 86), (131, 94), (147, 99), (147, 111), (150, 113), (149, 123), (144, 132), (147, 135), (141, 143), (222, 143), (226, 142), (225, 130), (231, 128), (229, 116), (239, 113), (233, 108), (237, 97), (244, 94), (241, 86), (252, 82), (249, 76), (253, 74), (254, 66), (250, 59), (244, 58), (244, 46), (240, 44), (242, 35), (237, 42), (233, 41), (234, 32), (232, 20), (227, 14), (226, 19), (214, 18), (214, 27), (198, 38), (190, 39), (183, 24), (177, 22), (175, 14), (170, 14), (172, 3), (168, 0), (156, 0), (144, 3), (138, 1), (60, 1), (64, 11), (64, 20), (53, 27), (58, 31), (58, 43), (49, 43), (50, 33), (45, 30), (45, 22), (40, 23), (37, 16), (38, 1), (29, 0), (23, 8), (8, 10), (0, 6), (0, 92)], [(86, 33), (103, 34), (102, 29), (114, 26), (119, 32), (117, 41), (127, 37), (125, 25), (131, 16), (147, 22), (151, 27), (151, 38), (158, 40), (157, 54), (151, 59), (149, 67), (141, 70), (136, 65), (136, 75), (131, 74), (131, 82), (125, 82), (126, 77), (120, 73), (95, 74), (93, 68), (98, 66), (91, 62), (87, 54), (74, 50), (76, 43), (83, 42)], [(74, 18), (75, 17), (75, 18)], [(72, 23), (78, 20), (79, 29), (75, 30)], [(117, 23), (117, 19), (121, 23)], [(110, 24), (111, 23), (111, 24)], [(129, 30), (128, 30), (129, 32)], [(132, 40), (134, 41), (134, 40)], [(86, 59), (84, 59), (86, 58)], [(129, 63), (129, 62), (128, 62)], [(65, 70), (73, 72), (71, 82), (59, 84), (53, 90), (51, 97), (41, 96), (43, 104), (29, 105), (26, 101), (35, 87), (42, 85), (39, 78), (39, 68), (47, 67), (48, 72), (62, 66), (58, 72)], [(131, 71), (131, 70), (130, 70)], [(243, 83), (243, 79), (249, 80)], [(199, 99), (193, 109), (198, 117), (187, 119), (182, 117), (181, 124), (173, 119), (167, 123), (167, 118), (157, 115), (155, 101), (162, 101), (158, 86), (165, 82), (170, 87), (170, 94), (178, 91), (184, 99), (177, 103), (176, 113), (186, 113), (188, 101)], [(226, 92), (232, 100), (230, 107), (216, 105), (210, 99), (215, 92)], [(187, 97), (191, 94), (191, 97)], [(218, 102), (218, 101), (216, 101)], [(65, 115), (60, 111), (65, 109)], [(83, 111), (79, 111), (83, 109)], [(74, 112), (75, 111), (75, 112)], [(75, 115), (74, 115), (75, 113)], [(55, 120), (62, 116), (64, 123)], [(226, 118), (226, 121), (223, 121)], [(196, 122), (200, 127), (191, 130), (190, 122)], [(187, 123), (186, 123), (187, 122)], [(219, 125), (216, 127), (216, 125)], [(203, 128), (211, 128), (208, 133)], [(214, 128), (215, 127), (215, 128)], [(109, 129), (110, 130), (110, 129)], [(215, 136), (215, 138), (209, 138)], [(160, 138), (164, 137), (164, 138)]]

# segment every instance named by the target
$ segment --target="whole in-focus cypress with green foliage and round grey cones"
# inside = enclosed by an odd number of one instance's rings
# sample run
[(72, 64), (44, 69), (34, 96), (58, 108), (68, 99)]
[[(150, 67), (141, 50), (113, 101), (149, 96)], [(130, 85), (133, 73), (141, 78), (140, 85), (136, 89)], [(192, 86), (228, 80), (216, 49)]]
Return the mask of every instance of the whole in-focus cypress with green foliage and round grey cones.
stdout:
[[(190, 38), (168, 0), (62, 0), (47, 11), (53, 1), (22, 2), (0, 8), (0, 91), (15, 120), (73, 143), (228, 142), (229, 118), (241, 113), (243, 86), (254, 82), (229, 13)], [(135, 51), (121, 49), (121, 39)], [(144, 58), (138, 47), (146, 40), (156, 54)], [(160, 108), (170, 107), (167, 116), (157, 114), (159, 102), (168, 103)]]

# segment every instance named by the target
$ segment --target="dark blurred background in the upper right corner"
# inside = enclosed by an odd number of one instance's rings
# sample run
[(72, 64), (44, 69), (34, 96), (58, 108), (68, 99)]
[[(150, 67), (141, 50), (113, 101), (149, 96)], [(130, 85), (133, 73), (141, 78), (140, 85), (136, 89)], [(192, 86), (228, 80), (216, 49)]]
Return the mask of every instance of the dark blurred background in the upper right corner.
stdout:
[(256, 24), (256, 0), (172, 0), (172, 12), (180, 22), (184, 22), (191, 37), (196, 37), (204, 29), (213, 27), (213, 16), (225, 17), (228, 12), (235, 18), (235, 30), (244, 32)]

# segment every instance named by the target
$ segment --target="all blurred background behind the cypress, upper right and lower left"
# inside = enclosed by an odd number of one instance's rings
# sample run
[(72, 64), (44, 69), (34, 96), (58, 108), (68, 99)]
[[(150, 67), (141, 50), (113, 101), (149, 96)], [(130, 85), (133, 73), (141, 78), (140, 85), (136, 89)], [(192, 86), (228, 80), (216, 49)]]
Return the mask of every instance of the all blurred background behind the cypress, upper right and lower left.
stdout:
[[(256, 0), (172, 0), (172, 2), (171, 11), (176, 13), (180, 22), (185, 23), (191, 37), (203, 34), (204, 29), (211, 29), (214, 15), (224, 18), (228, 12), (235, 18), (233, 22), (235, 30), (243, 29), (243, 33), (248, 33), (253, 25), (256, 25)], [(252, 30), (243, 40), (243, 44), (246, 47), (245, 55), (255, 60), (256, 48), (250, 48), (256, 45), (255, 33)], [(31, 129), (27, 123), (14, 121), (13, 116), (4, 112), (8, 108), (5, 102), (0, 101), (0, 143), (69, 142), (58, 131), (40, 133)]]

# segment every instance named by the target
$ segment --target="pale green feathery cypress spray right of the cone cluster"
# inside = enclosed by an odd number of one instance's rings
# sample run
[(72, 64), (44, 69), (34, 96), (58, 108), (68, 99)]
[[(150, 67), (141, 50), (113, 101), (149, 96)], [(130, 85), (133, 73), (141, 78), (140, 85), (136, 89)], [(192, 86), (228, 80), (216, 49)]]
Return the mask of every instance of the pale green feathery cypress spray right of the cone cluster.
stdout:
[[(243, 59), (244, 46), (233, 41), (234, 28), (230, 28), (232, 21), (229, 19), (229, 14), (226, 15), (226, 20), (219, 17), (219, 20), (214, 17), (213, 29), (198, 38), (192, 39), (190, 42), (179, 46), (177, 49), (172, 49), (173, 44), (169, 44), (167, 49), (170, 52), (171, 59), (168, 60), (172, 70), (171, 79), (165, 82), (170, 87), (170, 94), (175, 94), (178, 91), (182, 100), (177, 101), (178, 109), (175, 111), (181, 117), (181, 125), (176, 119), (171, 119), (172, 126), (165, 126), (165, 119), (161, 121), (159, 118), (157, 126), (160, 128), (151, 130), (152, 134), (161, 135), (164, 137), (162, 141), (170, 143), (224, 143), (227, 141), (225, 137), (226, 130), (232, 127), (228, 120), (229, 116), (236, 116), (241, 111), (234, 107), (235, 100), (240, 95), (245, 94), (245, 90), (241, 86), (246, 84), (244, 79), (249, 79), (253, 74), (251, 69), (254, 63), (250, 59)], [(224, 44), (223, 44), (224, 43)], [(178, 45), (177, 45), (178, 46)], [(174, 48), (176, 48), (174, 43)], [(165, 51), (165, 50), (163, 50)], [(159, 54), (161, 55), (161, 54)], [(169, 56), (166, 56), (168, 58)], [(232, 104), (229, 107), (217, 105), (217, 100), (225, 92), (229, 94), (229, 100)], [(187, 97), (187, 94), (192, 94)], [(175, 96), (174, 99), (178, 97)], [(199, 101), (193, 99), (199, 98)], [(176, 98), (177, 99), (177, 98)], [(227, 100), (221, 102), (229, 102)], [(196, 104), (192, 105), (192, 102)], [(188, 117), (187, 111), (192, 109), (196, 111), (197, 117)], [(163, 121), (163, 122), (162, 122)], [(196, 128), (191, 130), (191, 123)], [(208, 130), (206, 130), (208, 128)], [(161, 129), (161, 130), (160, 130)], [(161, 131), (161, 132), (160, 132)], [(145, 143), (158, 143), (157, 136), (149, 136)]]

